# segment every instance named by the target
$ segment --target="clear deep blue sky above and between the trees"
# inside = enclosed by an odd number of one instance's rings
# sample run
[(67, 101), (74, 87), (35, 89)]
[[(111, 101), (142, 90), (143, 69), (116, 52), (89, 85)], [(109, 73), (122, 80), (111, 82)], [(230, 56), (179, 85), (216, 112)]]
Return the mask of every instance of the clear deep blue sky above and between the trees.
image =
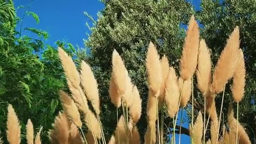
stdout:
[[(199, 9), (200, 0), (188, 0)], [(30, 0), (13, 0), (15, 8), (23, 5), (25, 8)], [(104, 5), (99, 0), (34, 0), (31, 3), (29, 11), (36, 13), (40, 18), (40, 23), (36, 24), (32, 17), (25, 16), (23, 28), (32, 27), (45, 30), (50, 37), (45, 42), (53, 45), (57, 40), (65, 40), (73, 45), (84, 47), (83, 39), (87, 39), (86, 33), (90, 33), (85, 23), (91, 21), (84, 15), (87, 11), (93, 18), (97, 19), (98, 11), (102, 10)], [(17, 10), (17, 15), (22, 17), (24, 9)], [(20, 26), (18, 25), (18, 29)], [(29, 35), (29, 33), (23, 33)], [(186, 115), (185, 115), (186, 116)], [(180, 116), (179, 116), (180, 117)], [(179, 121), (178, 123), (179, 124)], [(183, 125), (188, 128), (188, 125)], [(178, 135), (176, 141), (178, 142)], [(189, 137), (182, 135), (181, 143), (188, 144)]]

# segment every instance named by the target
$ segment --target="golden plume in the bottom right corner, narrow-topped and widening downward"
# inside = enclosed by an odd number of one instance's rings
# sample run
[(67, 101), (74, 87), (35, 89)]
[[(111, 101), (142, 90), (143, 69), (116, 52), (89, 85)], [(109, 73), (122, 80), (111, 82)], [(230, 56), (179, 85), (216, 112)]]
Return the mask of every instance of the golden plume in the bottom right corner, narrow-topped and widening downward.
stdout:
[[(228, 123), (229, 123), (229, 134), (232, 137), (236, 137), (236, 131), (237, 131), (237, 127), (236, 124), (238, 123), (238, 143), (239, 144), (251, 144), (251, 141), (245, 131), (245, 129), (243, 128), (243, 126), (237, 122), (237, 120), (234, 117), (234, 112), (233, 112), (233, 106), (232, 106), (232, 102), (229, 103), (229, 112), (228, 112)], [(232, 144), (235, 144), (236, 139), (233, 139)]]

